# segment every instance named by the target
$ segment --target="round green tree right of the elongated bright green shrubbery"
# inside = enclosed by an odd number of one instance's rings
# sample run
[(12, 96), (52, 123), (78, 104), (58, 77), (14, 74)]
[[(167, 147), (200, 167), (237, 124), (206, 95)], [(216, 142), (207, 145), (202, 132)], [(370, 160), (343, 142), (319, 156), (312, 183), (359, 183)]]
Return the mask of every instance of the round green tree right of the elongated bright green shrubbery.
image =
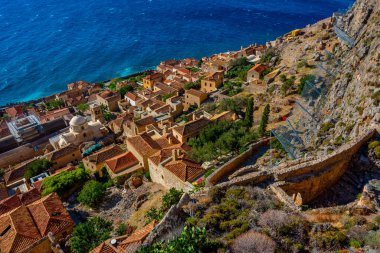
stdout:
[(78, 201), (86, 206), (94, 207), (105, 195), (105, 187), (102, 183), (90, 180), (80, 191)]

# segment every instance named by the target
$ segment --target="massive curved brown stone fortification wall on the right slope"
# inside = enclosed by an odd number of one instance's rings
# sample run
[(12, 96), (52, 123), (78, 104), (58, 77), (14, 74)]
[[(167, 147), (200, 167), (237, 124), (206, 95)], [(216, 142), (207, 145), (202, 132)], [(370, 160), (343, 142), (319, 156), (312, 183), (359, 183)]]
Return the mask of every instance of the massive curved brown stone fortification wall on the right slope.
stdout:
[[(236, 177), (228, 182), (218, 184), (218, 187), (227, 188), (232, 185), (270, 183), (273, 180), (276, 182), (276, 187), (281, 188), (290, 195), (297, 205), (308, 203), (340, 179), (345, 173), (352, 156), (375, 133), (376, 130), (369, 130), (341, 146), (327, 157), (291, 161), (267, 171), (253, 172), (245, 176)], [(278, 194), (276, 193), (276, 195)], [(284, 203), (286, 203), (285, 200)]]

